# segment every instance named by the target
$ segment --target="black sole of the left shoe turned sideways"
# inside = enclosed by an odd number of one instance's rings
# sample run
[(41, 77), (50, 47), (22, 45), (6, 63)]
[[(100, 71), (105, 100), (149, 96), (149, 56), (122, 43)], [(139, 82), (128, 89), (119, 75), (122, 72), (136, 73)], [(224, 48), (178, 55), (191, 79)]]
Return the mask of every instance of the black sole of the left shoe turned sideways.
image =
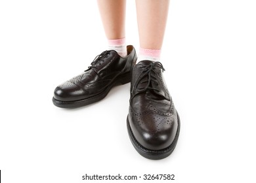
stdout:
[(56, 107), (61, 108), (75, 108), (90, 105), (92, 103), (96, 103), (97, 101), (104, 99), (104, 97), (108, 95), (108, 92), (110, 92), (110, 89), (114, 86), (117, 86), (118, 84), (127, 84), (129, 82), (131, 82), (131, 73), (126, 73), (125, 75), (117, 76), (117, 78), (112, 82), (112, 84), (110, 84), (102, 93), (98, 93), (97, 95), (94, 95), (86, 99), (81, 99), (78, 101), (59, 101), (53, 97), (53, 104)]

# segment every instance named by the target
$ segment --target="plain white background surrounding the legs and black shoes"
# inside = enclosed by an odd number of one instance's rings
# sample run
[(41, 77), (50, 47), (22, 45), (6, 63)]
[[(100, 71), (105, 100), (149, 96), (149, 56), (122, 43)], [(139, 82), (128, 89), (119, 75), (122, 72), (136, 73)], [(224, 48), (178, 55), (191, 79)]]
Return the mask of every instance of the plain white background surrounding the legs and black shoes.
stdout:
[[(1, 0), (2, 181), (75, 183), (86, 182), (85, 173), (120, 173), (255, 182), (255, 9), (254, 0), (171, 1), (161, 58), (181, 134), (171, 156), (152, 161), (127, 134), (129, 84), (87, 107), (51, 101), (58, 84), (106, 49), (96, 1)], [(127, 44), (139, 50), (135, 1), (127, 1)]]

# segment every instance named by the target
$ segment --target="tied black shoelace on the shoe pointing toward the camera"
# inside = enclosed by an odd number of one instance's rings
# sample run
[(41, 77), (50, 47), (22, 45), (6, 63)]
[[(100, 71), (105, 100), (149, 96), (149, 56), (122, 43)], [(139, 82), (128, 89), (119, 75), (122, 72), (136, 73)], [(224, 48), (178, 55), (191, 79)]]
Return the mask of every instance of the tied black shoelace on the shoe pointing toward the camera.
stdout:
[[(142, 70), (142, 73), (140, 73), (139, 79), (135, 82), (135, 90), (137, 90), (137, 93), (135, 95), (146, 92), (146, 90), (156, 90), (157, 92), (160, 92), (158, 88), (152, 87), (152, 82), (155, 82), (157, 86), (159, 85), (158, 80), (156, 78), (156, 71), (155, 71), (156, 67), (159, 67), (160, 69), (162, 69), (162, 71), (165, 71), (165, 69), (163, 68), (163, 65), (159, 61), (151, 63), (150, 65), (147, 65), (147, 66), (140, 67), (144, 69)], [(147, 80), (142, 81), (144, 78), (147, 78)], [(145, 82), (147, 82), (146, 86), (140, 88), (139, 84), (142, 84)]]

